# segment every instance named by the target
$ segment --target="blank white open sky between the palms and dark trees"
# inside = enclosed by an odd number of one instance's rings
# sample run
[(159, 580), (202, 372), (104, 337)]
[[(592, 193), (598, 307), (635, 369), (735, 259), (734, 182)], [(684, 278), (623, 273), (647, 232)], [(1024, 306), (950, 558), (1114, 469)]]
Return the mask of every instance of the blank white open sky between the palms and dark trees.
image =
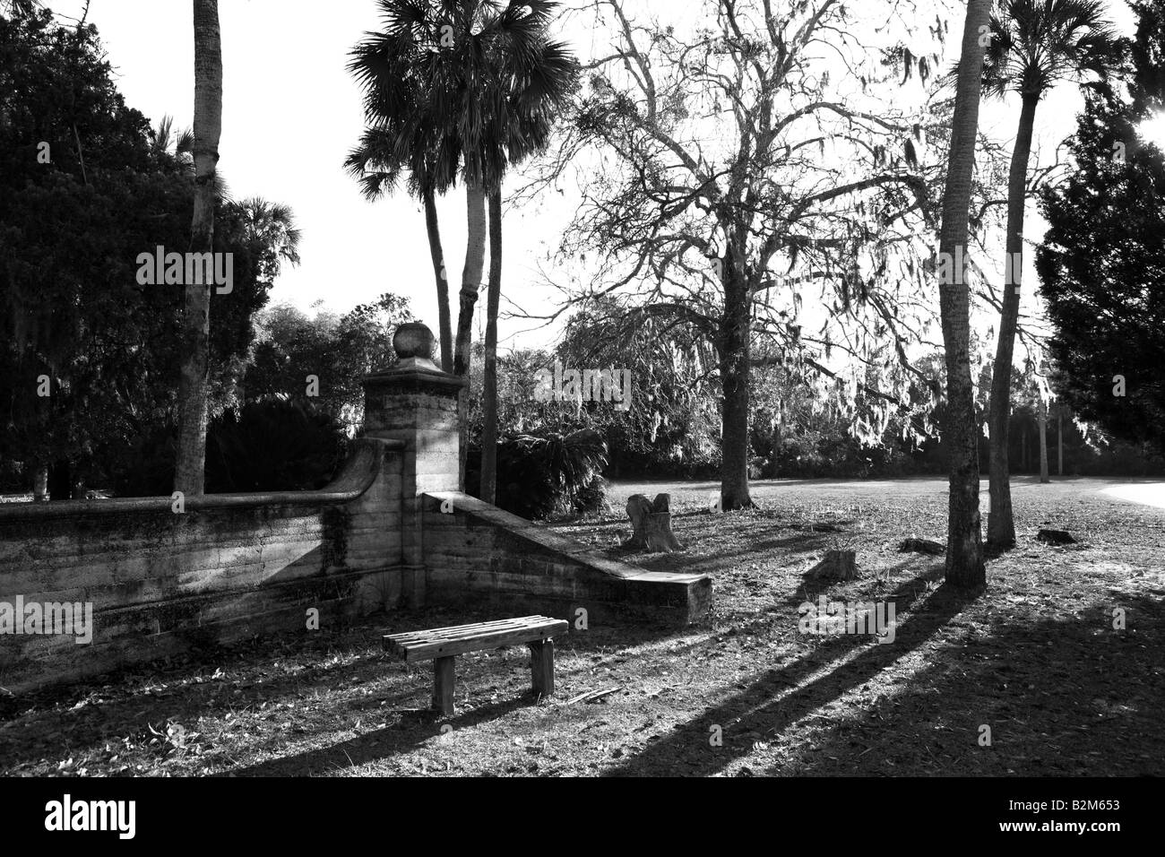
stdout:
[[(48, 0), (63, 15), (77, 15), (83, 0)], [(1130, 31), (1134, 16), (1123, 0), (1111, 0), (1111, 16)], [(690, 19), (699, 5), (684, 0), (641, 0), (631, 8)], [(415, 315), (437, 329), (432, 269), (424, 218), (403, 191), (367, 203), (343, 169), (344, 157), (363, 127), (360, 92), (345, 70), (347, 55), (366, 30), (377, 27), (373, 0), (333, 0), (320, 7), (306, 0), (221, 0), (224, 117), (219, 170), (235, 198), (262, 196), (289, 204), (303, 231), (297, 268), (285, 267), (271, 303), (309, 309), (316, 301), (336, 311), (370, 301), (383, 291), (411, 298)], [(193, 45), (189, 0), (91, 0), (118, 86), (127, 103), (151, 122), (163, 114), (189, 127), (193, 112)], [(951, 22), (952, 33), (961, 19)], [(556, 34), (589, 57), (608, 44), (593, 29), (574, 24)], [(573, 37), (572, 37), (573, 36)], [(1081, 106), (1072, 86), (1061, 86), (1040, 106), (1037, 120), (1044, 159), (1074, 129)], [(1015, 105), (988, 104), (983, 128), (1002, 140), (1015, 134)], [(1165, 128), (1163, 128), (1165, 132)], [(1165, 138), (1165, 133), (1163, 133)], [(558, 195), (553, 195), (558, 196)], [(1029, 206), (1031, 210), (1033, 206)], [(465, 248), (465, 203), (460, 190), (440, 201), (446, 266), (456, 288)], [(558, 197), (507, 213), (504, 300), (528, 311), (544, 311), (550, 295), (536, 283), (537, 267), (569, 223), (572, 205)], [(1029, 239), (1038, 239), (1032, 220)], [(479, 305), (483, 304), (482, 300)], [(548, 343), (545, 330), (522, 333), (529, 322), (502, 322), (502, 347)], [(478, 331), (475, 331), (475, 337)]]

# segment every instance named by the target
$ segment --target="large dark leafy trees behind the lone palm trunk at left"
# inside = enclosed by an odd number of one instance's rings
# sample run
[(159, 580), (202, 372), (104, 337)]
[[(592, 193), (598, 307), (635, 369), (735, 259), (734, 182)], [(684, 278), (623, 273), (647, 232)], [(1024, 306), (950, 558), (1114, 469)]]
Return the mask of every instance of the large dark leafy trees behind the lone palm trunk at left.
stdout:
[[(182, 290), (136, 276), (139, 254), (190, 245), (189, 159), (162, 136), (118, 93), (94, 27), (0, 16), (0, 461), (26, 487), (66, 473), (58, 499), (104, 485), (171, 416)], [(217, 215), (233, 289), (211, 301), (212, 413), (234, 401), (252, 316), (294, 260), (262, 205)]]

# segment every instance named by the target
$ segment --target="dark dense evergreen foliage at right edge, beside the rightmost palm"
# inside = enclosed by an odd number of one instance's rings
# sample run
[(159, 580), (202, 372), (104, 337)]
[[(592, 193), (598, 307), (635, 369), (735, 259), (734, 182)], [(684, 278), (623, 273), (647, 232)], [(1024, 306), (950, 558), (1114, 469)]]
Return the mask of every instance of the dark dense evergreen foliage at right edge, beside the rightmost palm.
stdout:
[(1096, 85), (1043, 198), (1042, 294), (1054, 328), (1054, 386), (1081, 419), (1165, 450), (1165, 156), (1138, 136), (1165, 99), (1165, 9), (1138, 3), (1129, 96)]

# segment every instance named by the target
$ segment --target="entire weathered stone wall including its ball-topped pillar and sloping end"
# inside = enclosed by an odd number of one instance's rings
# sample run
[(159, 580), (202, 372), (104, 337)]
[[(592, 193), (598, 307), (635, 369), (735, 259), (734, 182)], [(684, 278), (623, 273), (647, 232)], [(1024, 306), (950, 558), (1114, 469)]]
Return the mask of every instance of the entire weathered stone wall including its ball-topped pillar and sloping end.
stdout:
[[(424, 325), (403, 325), (394, 346), (397, 365), (363, 381), (366, 437), (322, 491), (207, 494), (181, 512), (169, 497), (0, 505), (0, 688), (305, 630), (309, 609), (322, 621), (426, 604), (678, 625), (707, 614), (705, 575), (612, 562), (458, 493), (463, 381), (432, 363)], [(5, 632), (17, 599), (91, 605), (92, 641)]]

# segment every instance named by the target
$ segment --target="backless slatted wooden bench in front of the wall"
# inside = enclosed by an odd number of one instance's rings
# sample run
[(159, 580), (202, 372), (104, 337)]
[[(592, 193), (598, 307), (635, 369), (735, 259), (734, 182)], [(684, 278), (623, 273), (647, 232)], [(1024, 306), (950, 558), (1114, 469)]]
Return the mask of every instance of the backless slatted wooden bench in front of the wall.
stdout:
[(480, 652), (500, 646), (530, 647), (530, 673), (536, 694), (555, 693), (555, 642), (551, 638), (566, 633), (563, 619), (523, 616), (520, 619), (481, 621), (431, 631), (407, 631), (384, 634), (384, 649), (405, 663), (433, 662), (433, 708), (443, 715), (453, 714), (453, 659), (466, 652)]

